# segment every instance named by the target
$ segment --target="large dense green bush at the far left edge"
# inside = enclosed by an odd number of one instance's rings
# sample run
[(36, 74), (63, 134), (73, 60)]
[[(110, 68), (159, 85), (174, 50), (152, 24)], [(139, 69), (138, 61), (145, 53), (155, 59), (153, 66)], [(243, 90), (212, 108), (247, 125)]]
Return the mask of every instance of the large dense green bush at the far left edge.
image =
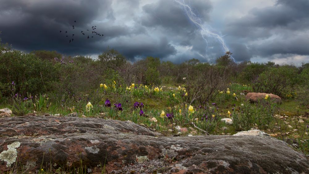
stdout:
[(4, 96), (52, 91), (53, 84), (58, 81), (57, 70), (51, 62), (17, 50), (0, 53), (0, 74), (0, 87), (15, 83), (14, 91), (1, 89)]

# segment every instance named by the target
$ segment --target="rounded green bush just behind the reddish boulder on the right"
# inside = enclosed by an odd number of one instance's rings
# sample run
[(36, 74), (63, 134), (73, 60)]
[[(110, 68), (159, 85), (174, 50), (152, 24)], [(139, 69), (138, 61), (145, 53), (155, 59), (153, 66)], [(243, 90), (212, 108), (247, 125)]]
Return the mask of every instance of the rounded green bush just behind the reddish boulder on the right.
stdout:
[(284, 97), (292, 92), (298, 83), (297, 69), (289, 66), (270, 68), (259, 75), (253, 82), (254, 92), (265, 92)]

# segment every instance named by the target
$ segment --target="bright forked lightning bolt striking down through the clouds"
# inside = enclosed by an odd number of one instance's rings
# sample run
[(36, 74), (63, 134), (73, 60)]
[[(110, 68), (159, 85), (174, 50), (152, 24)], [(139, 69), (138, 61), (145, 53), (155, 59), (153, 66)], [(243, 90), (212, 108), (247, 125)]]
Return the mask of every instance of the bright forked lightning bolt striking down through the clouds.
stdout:
[(222, 38), (223, 36), (220, 36), (217, 33), (210, 31), (208, 29), (208, 28), (211, 28), (209, 25), (203, 25), (202, 20), (193, 12), (191, 7), (189, 5), (187, 5), (184, 2), (184, 0), (182, 0), (181, 2), (179, 0), (174, 0), (174, 1), (177, 2), (178, 4), (180, 4), (180, 6), (184, 9), (184, 12), (186, 13), (188, 18), (190, 19), (190, 21), (192, 21), (197, 26), (197, 28), (200, 29), (201, 36), (202, 36), (203, 40), (205, 40), (205, 42), (206, 42), (206, 50), (207, 50), (207, 47), (208, 47), (208, 41), (207, 41), (206, 37), (213, 37), (216, 40), (218, 40), (218, 42), (222, 45), (222, 49), (224, 50), (224, 52), (229, 51), (229, 49), (227, 48), (227, 46), (226, 46), (226, 44), (225, 44), (225, 42)]

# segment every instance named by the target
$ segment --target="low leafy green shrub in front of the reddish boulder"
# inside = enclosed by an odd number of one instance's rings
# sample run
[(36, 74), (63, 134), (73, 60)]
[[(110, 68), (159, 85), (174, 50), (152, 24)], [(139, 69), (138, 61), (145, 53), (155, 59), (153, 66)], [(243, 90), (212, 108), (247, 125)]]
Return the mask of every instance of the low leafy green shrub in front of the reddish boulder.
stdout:
[(268, 103), (250, 104), (244, 103), (239, 112), (232, 112), (233, 126), (236, 131), (249, 130), (254, 126), (258, 129), (267, 129), (273, 121), (275, 105)]

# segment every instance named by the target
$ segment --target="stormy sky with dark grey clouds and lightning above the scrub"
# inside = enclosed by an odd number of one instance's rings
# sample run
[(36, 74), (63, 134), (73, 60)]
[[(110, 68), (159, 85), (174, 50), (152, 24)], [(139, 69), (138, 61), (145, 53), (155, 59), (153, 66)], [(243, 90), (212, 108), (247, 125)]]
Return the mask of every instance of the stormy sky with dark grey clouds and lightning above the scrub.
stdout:
[(45, 49), (95, 58), (109, 47), (131, 62), (147, 56), (175, 63), (191, 58), (214, 62), (226, 46), (236, 62), (309, 62), (309, 0), (0, 0), (0, 4), (2, 43), (25, 52)]

